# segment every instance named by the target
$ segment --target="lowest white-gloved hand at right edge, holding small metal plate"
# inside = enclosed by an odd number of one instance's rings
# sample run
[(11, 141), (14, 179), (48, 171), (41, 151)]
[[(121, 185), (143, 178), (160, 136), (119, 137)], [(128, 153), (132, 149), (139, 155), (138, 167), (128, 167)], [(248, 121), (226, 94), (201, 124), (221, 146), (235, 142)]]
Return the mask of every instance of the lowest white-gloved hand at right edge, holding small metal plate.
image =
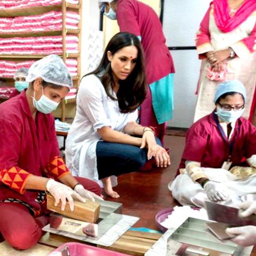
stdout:
[(256, 244), (256, 226), (241, 226), (227, 228), (227, 233), (236, 235), (231, 241), (240, 246), (250, 246)]

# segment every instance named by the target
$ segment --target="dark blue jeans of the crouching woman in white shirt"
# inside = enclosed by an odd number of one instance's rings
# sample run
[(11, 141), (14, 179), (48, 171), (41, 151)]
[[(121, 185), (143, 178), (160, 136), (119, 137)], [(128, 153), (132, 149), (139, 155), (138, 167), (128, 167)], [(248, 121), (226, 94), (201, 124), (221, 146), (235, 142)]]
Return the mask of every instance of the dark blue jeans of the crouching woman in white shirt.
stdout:
[[(160, 139), (156, 138), (156, 142), (161, 145)], [(138, 146), (99, 141), (96, 146), (99, 179), (139, 170), (148, 160), (147, 152)]]

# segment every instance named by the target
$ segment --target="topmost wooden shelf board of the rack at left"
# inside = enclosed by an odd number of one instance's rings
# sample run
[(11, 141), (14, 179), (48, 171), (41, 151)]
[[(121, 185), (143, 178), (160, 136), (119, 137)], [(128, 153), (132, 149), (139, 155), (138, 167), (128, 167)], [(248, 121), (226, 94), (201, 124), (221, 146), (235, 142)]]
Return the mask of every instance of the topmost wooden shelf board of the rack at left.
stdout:
[[(73, 5), (66, 3), (67, 8), (79, 9), (80, 5)], [(50, 6), (34, 6), (29, 8), (19, 8), (19, 9), (1, 9), (0, 17), (18, 17), (27, 15), (39, 15), (44, 14), (48, 11), (61, 10), (62, 5), (50, 5)]]

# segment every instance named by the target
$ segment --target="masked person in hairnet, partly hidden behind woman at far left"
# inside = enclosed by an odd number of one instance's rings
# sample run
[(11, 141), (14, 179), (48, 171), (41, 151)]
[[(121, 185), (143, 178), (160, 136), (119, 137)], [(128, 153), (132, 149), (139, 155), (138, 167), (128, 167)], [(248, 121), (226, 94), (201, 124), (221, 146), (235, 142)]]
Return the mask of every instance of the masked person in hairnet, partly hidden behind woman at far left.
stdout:
[(13, 98), (16, 95), (19, 95), (21, 93), (21, 91), (23, 91), (24, 89), (28, 88), (28, 84), (29, 83), (26, 81), (27, 73), (28, 73), (28, 69), (27, 68), (18, 69), (14, 73), (14, 81), (15, 81), (14, 82), (14, 86), (15, 86), (15, 90), (10, 95), (10, 98)]

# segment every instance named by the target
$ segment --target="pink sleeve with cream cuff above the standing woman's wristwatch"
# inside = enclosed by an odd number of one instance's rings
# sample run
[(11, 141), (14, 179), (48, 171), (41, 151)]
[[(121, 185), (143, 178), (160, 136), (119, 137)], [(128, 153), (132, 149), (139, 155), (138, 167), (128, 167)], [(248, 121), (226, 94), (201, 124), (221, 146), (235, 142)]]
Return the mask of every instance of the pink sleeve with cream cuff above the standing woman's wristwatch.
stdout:
[(230, 46), (238, 57), (243, 57), (256, 50), (256, 23), (250, 35)]

